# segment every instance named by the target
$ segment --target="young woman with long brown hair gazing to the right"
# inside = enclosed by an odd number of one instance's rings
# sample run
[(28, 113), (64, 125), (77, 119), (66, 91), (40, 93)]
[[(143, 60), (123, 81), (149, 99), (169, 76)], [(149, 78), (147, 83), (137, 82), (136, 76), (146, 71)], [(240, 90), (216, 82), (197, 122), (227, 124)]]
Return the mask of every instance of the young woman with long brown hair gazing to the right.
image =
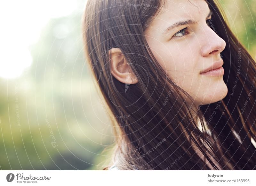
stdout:
[(89, 0), (83, 31), (116, 132), (111, 168), (256, 169), (256, 65), (216, 2)]

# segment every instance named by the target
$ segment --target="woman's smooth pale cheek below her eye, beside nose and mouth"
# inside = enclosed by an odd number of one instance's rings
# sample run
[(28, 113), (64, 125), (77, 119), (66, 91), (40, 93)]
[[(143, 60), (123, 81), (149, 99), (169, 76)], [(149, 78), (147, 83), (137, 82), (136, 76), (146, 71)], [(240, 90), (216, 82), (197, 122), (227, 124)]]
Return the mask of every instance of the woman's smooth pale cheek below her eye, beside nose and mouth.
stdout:
[(166, 45), (150, 43), (150, 47), (156, 60), (166, 70), (172, 80), (188, 93), (194, 93), (198, 90), (200, 77), (198, 66), (200, 65), (200, 51), (197, 44), (188, 41), (175, 40)]

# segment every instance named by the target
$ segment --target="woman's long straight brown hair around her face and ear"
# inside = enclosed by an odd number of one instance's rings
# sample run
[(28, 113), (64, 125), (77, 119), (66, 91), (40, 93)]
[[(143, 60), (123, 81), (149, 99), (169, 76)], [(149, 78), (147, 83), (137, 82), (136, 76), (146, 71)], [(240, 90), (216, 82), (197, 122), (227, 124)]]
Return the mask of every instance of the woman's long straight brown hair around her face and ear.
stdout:
[[(227, 43), (222, 58), (228, 95), (192, 112), (187, 104), (191, 97), (159, 65), (143, 34), (165, 2), (88, 1), (83, 17), (86, 61), (115, 116), (110, 114), (120, 170), (256, 169), (251, 142), (256, 140), (255, 62), (232, 34), (220, 6), (206, 2), (214, 15), (210, 26)], [(138, 83), (127, 85), (111, 75), (108, 50), (113, 47), (123, 52)]]

